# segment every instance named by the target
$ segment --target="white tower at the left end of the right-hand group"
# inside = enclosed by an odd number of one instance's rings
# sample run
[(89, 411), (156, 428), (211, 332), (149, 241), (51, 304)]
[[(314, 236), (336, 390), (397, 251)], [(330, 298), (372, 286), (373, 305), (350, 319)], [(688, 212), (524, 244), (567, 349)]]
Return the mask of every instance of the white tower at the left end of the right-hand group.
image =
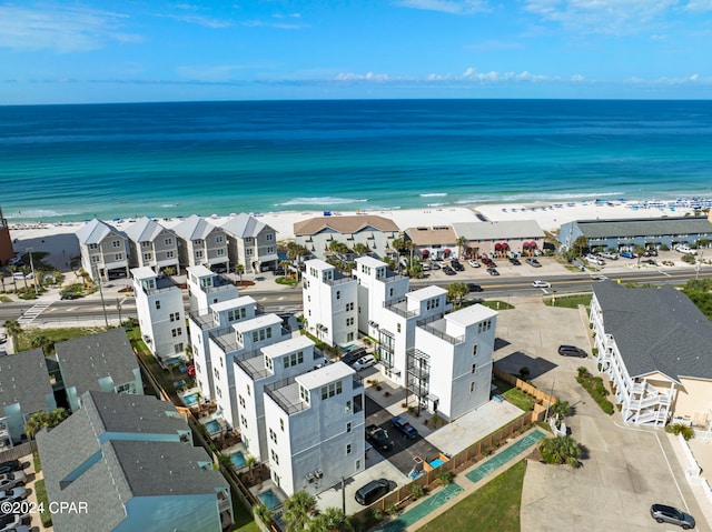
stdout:
[(308, 260), (303, 279), (306, 330), (329, 345), (358, 338), (358, 283), (319, 259)]

